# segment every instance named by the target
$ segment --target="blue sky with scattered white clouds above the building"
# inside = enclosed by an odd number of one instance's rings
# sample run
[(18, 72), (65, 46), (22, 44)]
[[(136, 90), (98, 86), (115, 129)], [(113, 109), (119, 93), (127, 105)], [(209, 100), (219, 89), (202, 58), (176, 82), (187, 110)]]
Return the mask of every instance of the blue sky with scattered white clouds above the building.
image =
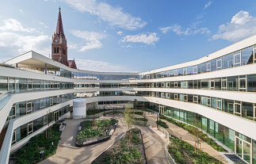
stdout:
[(89, 71), (151, 71), (256, 34), (254, 0), (2, 0), (0, 62), (49, 57), (59, 6), (68, 58)]

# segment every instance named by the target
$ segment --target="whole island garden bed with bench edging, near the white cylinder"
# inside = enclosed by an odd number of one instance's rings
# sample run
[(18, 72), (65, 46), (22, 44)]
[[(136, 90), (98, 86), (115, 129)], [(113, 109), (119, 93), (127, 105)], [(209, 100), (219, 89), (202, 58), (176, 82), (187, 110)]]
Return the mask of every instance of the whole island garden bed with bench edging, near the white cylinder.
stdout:
[(84, 120), (78, 128), (76, 147), (86, 147), (110, 139), (117, 128), (118, 120)]

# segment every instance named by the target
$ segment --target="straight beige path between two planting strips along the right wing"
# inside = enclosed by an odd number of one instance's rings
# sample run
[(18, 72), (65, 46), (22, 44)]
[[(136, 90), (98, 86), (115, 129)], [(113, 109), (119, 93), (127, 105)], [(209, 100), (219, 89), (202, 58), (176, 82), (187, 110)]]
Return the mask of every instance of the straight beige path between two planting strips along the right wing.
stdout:
[[(155, 118), (152, 118), (152, 117), (150, 118), (151, 123), (155, 120), (156, 120)], [(191, 134), (190, 132), (184, 130), (183, 128), (176, 126), (175, 124), (171, 124), (166, 120), (162, 120), (162, 121), (169, 126), (169, 128), (166, 129), (167, 132), (169, 132), (171, 135), (177, 136), (178, 138), (181, 137), (182, 140), (190, 143), (194, 147), (195, 142), (197, 141), (197, 136)], [(224, 158), (222, 154), (220, 154), (219, 151), (216, 151), (215, 149), (213, 149), (211, 146), (208, 145), (208, 143), (205, 143), (203, 140), (201, 140), (201, 151), (208, 153), (212, 157), (220, 160), (221, 162), (228, 163), (227, 160)]]

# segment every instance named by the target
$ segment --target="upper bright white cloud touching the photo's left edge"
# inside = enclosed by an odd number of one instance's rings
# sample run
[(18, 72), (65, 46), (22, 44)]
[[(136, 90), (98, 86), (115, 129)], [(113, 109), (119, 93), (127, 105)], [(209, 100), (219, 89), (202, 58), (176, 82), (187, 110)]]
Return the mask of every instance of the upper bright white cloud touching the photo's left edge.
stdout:
[(36, 29), (25, 28), (21, 25), (21, 22), (15, 19), (7, 19), (4, 22), (4, 25), (0, 26), (1, 31), (14, 31), (14, 32), (35, 32)]

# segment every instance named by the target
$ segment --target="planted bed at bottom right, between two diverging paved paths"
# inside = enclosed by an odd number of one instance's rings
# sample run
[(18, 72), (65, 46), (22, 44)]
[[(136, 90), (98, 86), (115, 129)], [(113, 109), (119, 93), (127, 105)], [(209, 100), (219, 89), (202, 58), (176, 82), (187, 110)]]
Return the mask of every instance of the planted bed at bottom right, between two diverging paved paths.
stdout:
[(181, 139), (178, 139), (178, 137), (175, 137), (174, 135), (170, 137), (168, 151), (177, 164), (222, 163), (203, 151), (197, 150), (197, 152), (195, 152), (195, 147)]

